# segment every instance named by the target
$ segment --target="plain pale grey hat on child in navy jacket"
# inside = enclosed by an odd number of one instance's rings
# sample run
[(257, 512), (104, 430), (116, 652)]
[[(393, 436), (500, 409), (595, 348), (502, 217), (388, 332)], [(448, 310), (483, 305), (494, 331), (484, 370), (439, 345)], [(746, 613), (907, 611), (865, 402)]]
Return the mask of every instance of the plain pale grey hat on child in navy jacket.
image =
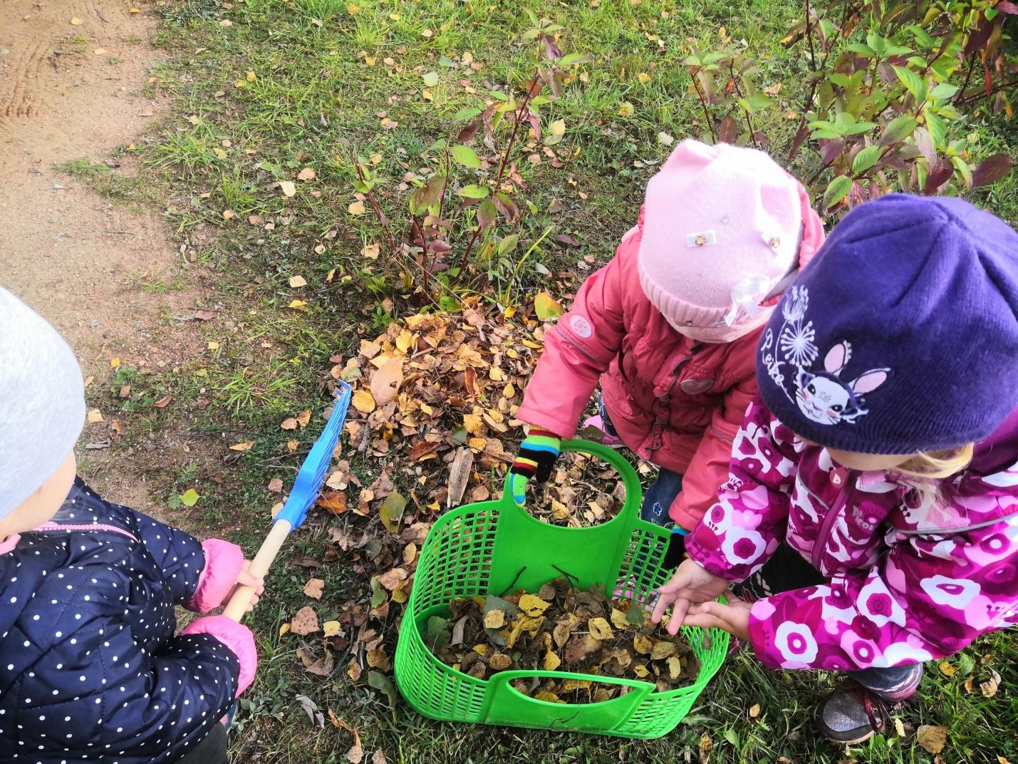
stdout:
[(84, 383), (73, 351), (0, 287), (0, 517), (49, 480), (83, 425)]

